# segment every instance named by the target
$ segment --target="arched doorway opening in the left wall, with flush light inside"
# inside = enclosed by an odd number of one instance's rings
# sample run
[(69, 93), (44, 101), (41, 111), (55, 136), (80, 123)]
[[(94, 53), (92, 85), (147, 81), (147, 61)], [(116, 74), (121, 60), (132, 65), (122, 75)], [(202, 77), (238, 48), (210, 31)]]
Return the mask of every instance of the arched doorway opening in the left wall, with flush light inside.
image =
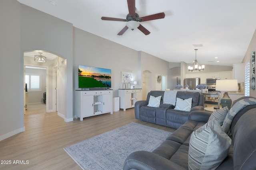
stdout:
[[(38, 53), (46, 57), (45, 63), (34, 61)], [(41, 50), (24, 53), (24, 114), (57, 111), (59, 58)]]

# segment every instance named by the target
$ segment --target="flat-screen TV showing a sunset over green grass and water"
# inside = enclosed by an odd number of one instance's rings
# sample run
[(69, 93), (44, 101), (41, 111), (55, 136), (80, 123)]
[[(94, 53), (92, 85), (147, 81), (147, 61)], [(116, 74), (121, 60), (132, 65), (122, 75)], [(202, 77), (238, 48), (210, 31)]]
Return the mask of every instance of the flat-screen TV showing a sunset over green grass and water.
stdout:
[(78, 88), (111, 88), (111, 69), (78, 65)]

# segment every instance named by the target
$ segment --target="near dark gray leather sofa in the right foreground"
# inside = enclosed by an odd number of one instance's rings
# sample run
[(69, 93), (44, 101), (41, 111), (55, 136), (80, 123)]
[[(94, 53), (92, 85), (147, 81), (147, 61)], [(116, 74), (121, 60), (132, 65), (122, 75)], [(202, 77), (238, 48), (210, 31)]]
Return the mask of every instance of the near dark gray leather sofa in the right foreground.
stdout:
[[(240, 98), (236, 102), (245, 98)], [(224, 160), (222, 159), (217, 168), (213, 169), (256, 170), (256, 99), (252, 100), (253, 105), (241, 107), (242, 109), (234, 116), (230, 125), (231, 146)], [(210, 115), (207, 111), (192, 111), (186, 123), (167, 137), (158, 148), (152, 152), (131, 153), (125, 160), (124, 170), (188, 170), (191, 134), (208, 122)], [(222, 145), (220, 146), (221, 150)], [(211, 147), (208, 150), (218, 152), (216, 148)], [(214, 157), (211, 160), (214, 162), (216, 159), (218, 158)]]

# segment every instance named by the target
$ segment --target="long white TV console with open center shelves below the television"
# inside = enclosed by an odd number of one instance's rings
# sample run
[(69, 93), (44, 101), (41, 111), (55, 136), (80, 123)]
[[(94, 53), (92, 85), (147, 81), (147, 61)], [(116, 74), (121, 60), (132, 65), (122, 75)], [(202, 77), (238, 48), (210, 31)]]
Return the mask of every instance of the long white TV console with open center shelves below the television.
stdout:
[(80, 117), (80, 121), (82, 121), (84, 117), (100, 115), (104, 113), (113, 114), (112, 98), (112, 90), (76, 90), (76, 118)]

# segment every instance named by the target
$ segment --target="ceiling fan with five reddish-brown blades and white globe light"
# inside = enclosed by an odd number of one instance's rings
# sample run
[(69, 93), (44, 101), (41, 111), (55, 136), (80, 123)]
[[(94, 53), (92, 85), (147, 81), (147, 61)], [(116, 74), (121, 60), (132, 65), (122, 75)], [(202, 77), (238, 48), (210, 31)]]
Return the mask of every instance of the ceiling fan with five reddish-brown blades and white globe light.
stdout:
[(158, 20), (161, 18), (165, 17), (164, 12), (158, 13), (158, 14), (153, 14), (150, 16), (144, 16), (140, 17), (136, 12), (135, 12), (135, 0), (127, 0), (128, 4), (128, 10), (129, 14), (127, 14), (126, 19), (121, 19), (121, 18), (110, 18), (110, 17), (102, 17), (102, 20), (108, 20), (108, 21), (125, 21), (126, 26), (117, 34), (117, 35), (123, 35), (124, 32), (130, 28), (132, 30), (138, 28), (142, 33), (145, 35), (150, 34), (150, 31), (148, 31), (145, 27), (143, 27), (139, 22), (143, 21), (150, 21), (150, 20)]

